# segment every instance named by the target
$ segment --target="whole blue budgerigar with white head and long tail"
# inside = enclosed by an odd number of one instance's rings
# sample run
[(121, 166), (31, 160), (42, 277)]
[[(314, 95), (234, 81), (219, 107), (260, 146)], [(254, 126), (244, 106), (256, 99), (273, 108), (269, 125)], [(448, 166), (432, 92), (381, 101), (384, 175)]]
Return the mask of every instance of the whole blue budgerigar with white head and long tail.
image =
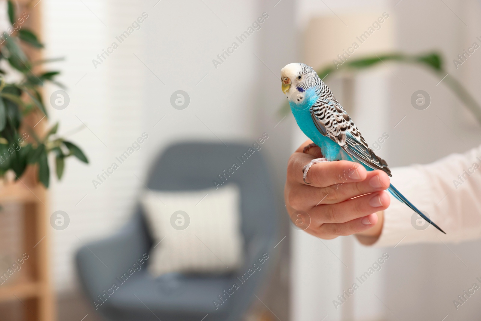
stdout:
[[(313, 159), (304, 167), (304, 182), (312, 165), (335, 160), (357, 162), (367, 170), (380, 169), (392, 176), (387, 163), (367, 146), (353, 120), (312, 67), (301, 63), (288, 64), (281, 70), (281, 81), (282, 91), (289, 99), (297, 125), (315, 145), (320, 147), (324, 156)], [(446, 234), (392, 184), (389, 185), (388, 191)]]

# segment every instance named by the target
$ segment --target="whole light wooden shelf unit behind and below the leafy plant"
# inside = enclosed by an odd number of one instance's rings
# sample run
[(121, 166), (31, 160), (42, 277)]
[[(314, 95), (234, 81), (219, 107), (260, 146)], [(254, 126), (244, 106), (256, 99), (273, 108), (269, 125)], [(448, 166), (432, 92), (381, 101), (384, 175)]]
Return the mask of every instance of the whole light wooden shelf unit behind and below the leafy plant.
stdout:
[[(18, 14), (28, 13), (28, 19), (22, 28), (34, 30), (40, 41), (42, 40), (42, 13), (40, 1), (16, 0), (13, 1)], [(4, 4), (5, 5), (5, 4)], [(42, 59), (40, 51), (29, 46), (23, 46), (25, 53), (32, 61)], [(41, 65), (33, 67), (34, 73), (42, 72)], [(43, 133), (47, 122), (44, 116), (30, 113), (25, 116), (25, 126), (21, 130), (34, 128), (38, 133)], [(30, 141), (32, 138), (30, 138)], [(28, 141), (28, 139), (27, 139)], [(48, 197), (45, 188), (37, 182), (37, 167), (29, 165), (20, 178), (21, 181), (0, 184), (0, 205), (15, 203), (23, 207), (19, 211), (22, 219), (22, 252), (28, 259), (22, 264), (18, 277), (5, 284), (0, 284), (0, 301), (20, 300), (19, 305), (24, 310), (25, 321), (55, 321), (55, 300), (51, 288), (49, 231), (51, 229), (48, 208)], [(0, 271), (3, 273), (3, 271)], [(0, 311), (0, 319), (2, 311)]]

